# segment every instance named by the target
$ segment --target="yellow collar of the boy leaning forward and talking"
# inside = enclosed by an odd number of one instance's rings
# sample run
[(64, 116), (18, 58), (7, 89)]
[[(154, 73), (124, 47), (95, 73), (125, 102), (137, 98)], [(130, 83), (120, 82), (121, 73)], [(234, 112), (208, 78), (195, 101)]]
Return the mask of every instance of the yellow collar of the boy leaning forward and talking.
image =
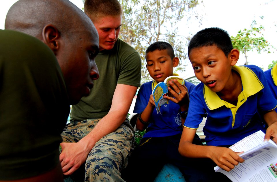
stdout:
[[(246, 101), (247, 97), (256, 94), (261, 89), (263, 89), (263, 84), (257, 77), (257, 75), (246, 66), (232, 66), (232, 69), (237, 71), (242, 79), (243, 85), (243, 95)], [(221, 106), (226, 105), (226, 107), (230, 108), (230, 104), (224, 100), (221, 100), (218, 95), (210, 90), (206, 85), (203, 88), (204, 100), (209, 108), (209, 110), (217, 109)], [(243, 100), (239, 100), (238, 102), (242, 102)]]

